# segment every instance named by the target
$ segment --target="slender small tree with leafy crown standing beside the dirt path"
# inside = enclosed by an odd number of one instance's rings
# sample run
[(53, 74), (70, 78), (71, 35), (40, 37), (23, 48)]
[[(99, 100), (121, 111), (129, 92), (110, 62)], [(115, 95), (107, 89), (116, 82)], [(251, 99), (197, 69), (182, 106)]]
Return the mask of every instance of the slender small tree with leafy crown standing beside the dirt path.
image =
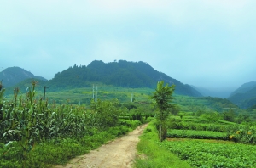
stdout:
[(159, 110), (159, 114), (157, 115), (159, 126), (157, 127), (160, 135), (160, 142), (166, 138), (166, 120), (170, 114), (169, 110), (172, 109), (171, 103), (173, 99), (172, 93), (174, 92), (174, 87), (175, 85), (169, 87), (168, 84), (164, 86), (164, 81), (159, 81), (155, 91), (153, 92), (153, 96), (151, 96), (151, 98), (155, 101), (154, 104)]

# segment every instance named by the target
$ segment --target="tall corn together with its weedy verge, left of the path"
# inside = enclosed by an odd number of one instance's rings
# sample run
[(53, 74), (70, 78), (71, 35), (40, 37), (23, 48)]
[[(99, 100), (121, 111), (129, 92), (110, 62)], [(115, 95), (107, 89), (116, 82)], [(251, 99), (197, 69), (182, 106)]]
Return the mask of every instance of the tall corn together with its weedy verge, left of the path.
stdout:
[[(89, 108), (48, 104), (47, 100), (35, 98), (35, 87), (33, 82), (24, 98), (15, 88), (12, 101), (3, 98), (4, 89), (0, 89), (0, 167), (29, 167), (27, 160), (34, 162), (32, 167), (60, 164), (73, 154), (82, 154), (140, 124), (119, 120), (123, 110), (117, 99), (92, 101)], [(63, 143), (72, 151), (65, 152)], [(52, 161), (47, 158), (49, 162), (44, 165), (42, 158), (47, 153)], [(63, 159), (61, 154), (70, 155)], [(56, 162), (58, 157), (61, 159)]]

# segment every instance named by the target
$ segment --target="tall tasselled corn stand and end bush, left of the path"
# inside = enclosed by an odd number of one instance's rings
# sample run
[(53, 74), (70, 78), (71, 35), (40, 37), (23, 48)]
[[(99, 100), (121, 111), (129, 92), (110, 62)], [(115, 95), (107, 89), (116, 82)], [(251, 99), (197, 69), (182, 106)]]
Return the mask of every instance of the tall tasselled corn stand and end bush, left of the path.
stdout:
[(0, 83), (0, 143), (19, 143), (22, 159), (37, 143), (48, 140), (59, 141), (67, 137), (83, 137), (93, 130), (104, 130), (116, 126), (121, 114), (119, 101), (92, 101), (90, 109), (72, 104), (49, 104), (36, 99), (36, 82), (26, 92), (25, 98), (14, 90), (14, 98), (3, 98), (5, 89)]

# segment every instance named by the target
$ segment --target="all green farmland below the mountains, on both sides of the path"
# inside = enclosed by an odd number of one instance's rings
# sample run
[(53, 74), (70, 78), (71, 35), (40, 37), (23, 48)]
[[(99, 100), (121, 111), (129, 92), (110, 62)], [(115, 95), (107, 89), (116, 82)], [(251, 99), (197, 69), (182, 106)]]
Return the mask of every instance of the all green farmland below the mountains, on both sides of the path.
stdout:
[[(46, 100), (33, 85), (27, 92), (15, 90), (14, 95), (5, 96), (1, 90), (0, 167), (65, 165), (76, 155), (153, 120), (157, 114), (149, 99), (153, 91), (99, 85), (95, 102), (92, 87), (47, 91)], [(249, 152), (256, 143), (253, 114), (216, 98), (174, 94), (173, 104), (167, 140), (158, 142), (153, 121), (145, 131), (149, 137), (144, 136), (152, 142), (137, 147), (148, 157), (146, 167), (255, 167)], [(150, 148), (163, 151), (150, 156)], [(172, 162), (163, 165), (166, 160)], [(136, 165), (143, 167), (145, 162), (137, 159)]]

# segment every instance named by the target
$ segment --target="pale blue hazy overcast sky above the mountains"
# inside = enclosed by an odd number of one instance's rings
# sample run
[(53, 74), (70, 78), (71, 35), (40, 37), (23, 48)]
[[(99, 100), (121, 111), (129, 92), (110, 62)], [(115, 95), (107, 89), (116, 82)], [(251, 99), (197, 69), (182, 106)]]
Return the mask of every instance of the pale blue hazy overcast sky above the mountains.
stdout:
[(0, 71), (52, 79), (93, 60), (143, 61), (184, 84), (256, 81), (255, 0), (0, 0)]

